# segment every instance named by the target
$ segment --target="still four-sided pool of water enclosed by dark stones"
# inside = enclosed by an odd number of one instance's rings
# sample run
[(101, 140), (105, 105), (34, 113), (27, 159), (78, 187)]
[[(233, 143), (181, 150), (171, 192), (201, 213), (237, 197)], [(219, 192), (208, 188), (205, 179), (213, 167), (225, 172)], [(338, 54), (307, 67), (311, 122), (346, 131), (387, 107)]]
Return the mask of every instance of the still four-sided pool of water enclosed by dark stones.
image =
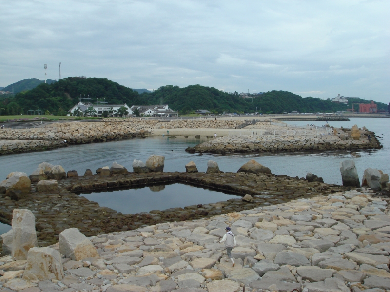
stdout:
[(232, 198), (241, 198), (237, 195), (228, 195), (180, 183), (141, 189), (81, 194), (80, 196), (123, 214), (136, 214), (175, 207), (184, 208), (189, 205), (216, 203)]

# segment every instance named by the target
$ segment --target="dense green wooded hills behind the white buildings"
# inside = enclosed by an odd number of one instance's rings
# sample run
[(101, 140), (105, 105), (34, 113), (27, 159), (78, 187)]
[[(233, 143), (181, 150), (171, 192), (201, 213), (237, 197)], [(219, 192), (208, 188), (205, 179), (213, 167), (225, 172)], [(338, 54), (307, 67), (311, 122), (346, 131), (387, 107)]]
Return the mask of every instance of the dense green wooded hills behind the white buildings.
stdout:
[[(151, 93), (138, 94), (137, 91), (119, 85), (107, 78), (68, 77), (52, 84), (41, 83), (37, 87), (17, 93), (13, 98), (0, 98), (0, 115), (25, 115), (28, 110), (49, 111), (54, 115), (66, 115), (68, 110), (78, 103), (81, 97), (89, 97), (90, 102), (126, 103), (129, 106), (139, 104), (159, 104), (164, 102), (180, 114), (194, 112), (197, 109), (213, 113), (283, 113), (335, 112), (347, 109), (346, 104), (331, 102), (320, 98), (306, 97), (288, 91), (269, 91), (253, 98), (241, 98), (237, 92), (227, 93), (214, 87), (189, 85), (184, 88), (167, 85)], [(359, 98), (352, 102), (368, 103)], [(387, 109), (387, 105), (377, 103), (378, 109)], [(256, 109), (257, 108), (257, 109)], [(355, 105), (355, 111), (358, 105)]]

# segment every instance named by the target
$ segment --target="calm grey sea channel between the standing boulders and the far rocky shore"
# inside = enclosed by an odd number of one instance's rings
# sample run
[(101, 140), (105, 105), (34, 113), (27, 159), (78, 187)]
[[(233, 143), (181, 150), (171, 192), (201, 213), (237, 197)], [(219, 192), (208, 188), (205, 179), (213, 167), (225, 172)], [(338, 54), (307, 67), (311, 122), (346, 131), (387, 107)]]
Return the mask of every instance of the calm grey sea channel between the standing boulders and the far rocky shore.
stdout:
[[(300, 125), (306, 125), (307, 123), (314, 123), (315, 125), (324, 124), (324, 122), (307, 121), (293, 121), (289, 123)], [(99, 167), (111, 166), (114, 161), (124, 165), (129, 171), (132, 171), (134, 159), (145, 162), (151, 154), (165, 156), (165, 171), (185, 171), (185, 164), (191, 160), (195, 161), (199, 171), (206, 171), (207, 161), (212, 159), (219, 164), (220, 170), (236, 172), (242, 164), (250, 159), (255, 159), (259, 163), (269, 167), (276, 175), (305, 177), (307, 172), (311, 172), (323, 177), (326, 183), (341, 184), (339, 163), (344, 159), (353, 159), (360, 179), (363, 176), (364, 170), (368, 167), (377, 168), (384, 173), (390, 174), (390, 118), (351, 118), (351, 121), (337, 121), (330, 122), (330, 124), (335, 127), (343, 126), (345, 128), (351, 127), (354, 124), (357, 124), (359, 127), (366, 126), (370, 131), (374, 131), (376, 135), (382, 137), (379, 138), (379, 141), (384, 148), (380, 150), (354, 152), (260, 153), (226, 156), (206, 154), (199, 156), (197, 154), (186, 153), (184, 149), (187, 146), (194, 146), (204, 140), (197, 140), (194, 137), (185, 139), (180, 136), (176, 139), (168, 139), (167, 137), (159, 136), (109, 143), (84, 144), (45, 152), (0, 156), (0, 178), (5, 179), (13, 171), (22, 171), (31, 174), (42, 161), (62, 165), (66, 171), (77, 170), (79, 175), (83, 175), (87, 168), (95, 172)], [(191, 190), (198, 191), (198, 188)], [(140, 192), (140, 190), (137, 192)], [(101, 195), (105, 196), (106, 193), (101, 193)], [(183, 206), (193, 204), (189, 201), (191, 196), (182, 198), (185, 198)], [(97, 201), (97, 199), (93, 200)], [(196, 204), (204, 204), (207, 202), (199, 200), (196, 201)], [(110, 207), (107, 204), (103, 205)], [(179, 205), (170, 205), (166, 208), (176, 206)], [(113, 209), (120, 211), (118, 208)], [(142, 211), (150, 211), (152, 209)], [(157, 209), (161, 210), (163, 208), (158, 207)], [(8, 226), (4, 227), (0, 224), (0, 233), (2, 228), (9, 229)], [(4, 232), (7, 230), (4, 230)]]

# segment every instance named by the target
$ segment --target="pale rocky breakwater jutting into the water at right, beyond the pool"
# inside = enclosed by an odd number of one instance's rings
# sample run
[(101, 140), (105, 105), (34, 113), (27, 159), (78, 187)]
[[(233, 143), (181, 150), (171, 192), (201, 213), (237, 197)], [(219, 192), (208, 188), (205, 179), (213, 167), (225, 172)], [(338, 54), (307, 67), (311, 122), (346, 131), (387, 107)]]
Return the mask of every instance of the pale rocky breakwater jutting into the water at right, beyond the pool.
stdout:
[(336, 149), (375, 149), (381, 148), (375, 134), (371, 142), (366, 138), (359, 140), (342, 139), (333, 135), (229, 135), (207, 141), (186, 149), (187, 152), (238, 153), (275, 152)]

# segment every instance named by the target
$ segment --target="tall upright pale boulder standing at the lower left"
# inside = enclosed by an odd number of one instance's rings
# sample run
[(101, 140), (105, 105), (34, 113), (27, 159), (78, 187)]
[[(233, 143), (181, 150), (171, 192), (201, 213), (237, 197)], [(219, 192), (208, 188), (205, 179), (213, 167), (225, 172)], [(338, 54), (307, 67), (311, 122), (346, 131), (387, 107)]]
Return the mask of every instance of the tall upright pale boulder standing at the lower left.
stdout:
[(14, 209), (12, 230), (14, 233), (12, 257), (16, 260), (26, 260), (28, 250), (38, 244), (34, 214), (27, 209)]

